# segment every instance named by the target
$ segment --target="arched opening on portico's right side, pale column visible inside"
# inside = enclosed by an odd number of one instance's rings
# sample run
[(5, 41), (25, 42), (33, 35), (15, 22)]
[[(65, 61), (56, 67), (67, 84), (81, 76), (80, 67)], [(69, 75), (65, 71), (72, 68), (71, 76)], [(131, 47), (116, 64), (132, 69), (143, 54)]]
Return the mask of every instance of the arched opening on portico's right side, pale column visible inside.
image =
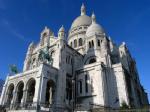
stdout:
[(46, 84), (46, 95), (45, 95), (45, 103), (52, 104), (54, 102), (54, 94), (55, 94), (55, 82), (52, 79), (49, 79)]

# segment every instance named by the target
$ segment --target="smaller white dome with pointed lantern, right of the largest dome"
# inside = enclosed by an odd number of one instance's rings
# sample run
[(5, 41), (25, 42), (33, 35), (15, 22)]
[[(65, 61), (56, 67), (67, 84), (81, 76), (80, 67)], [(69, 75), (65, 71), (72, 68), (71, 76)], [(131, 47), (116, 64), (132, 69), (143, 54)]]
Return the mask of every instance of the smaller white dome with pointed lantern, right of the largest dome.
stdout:
[(102, 28), (102, 26), (96, 23), (95, 15), (92, 14), (92, 24), (88, 27), (86, 31), (86, 36), (89, 37), (94, 34), (103, 34), (103, 33), (104, 29)]

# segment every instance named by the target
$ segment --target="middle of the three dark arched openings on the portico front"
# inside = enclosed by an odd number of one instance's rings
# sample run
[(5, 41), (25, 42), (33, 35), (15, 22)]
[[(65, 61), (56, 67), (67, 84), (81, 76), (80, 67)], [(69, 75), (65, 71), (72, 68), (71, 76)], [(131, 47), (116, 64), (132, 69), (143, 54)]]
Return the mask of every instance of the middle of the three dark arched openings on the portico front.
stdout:
[(17, 104), (20, 104), (21, 103), (21, 100), (23, 98), (23, 89), (24, 89), (24, 82), (23, 81), (20, 81), (18, 84), (17, 84), (17, 89), (16, 89), (16, 103)]

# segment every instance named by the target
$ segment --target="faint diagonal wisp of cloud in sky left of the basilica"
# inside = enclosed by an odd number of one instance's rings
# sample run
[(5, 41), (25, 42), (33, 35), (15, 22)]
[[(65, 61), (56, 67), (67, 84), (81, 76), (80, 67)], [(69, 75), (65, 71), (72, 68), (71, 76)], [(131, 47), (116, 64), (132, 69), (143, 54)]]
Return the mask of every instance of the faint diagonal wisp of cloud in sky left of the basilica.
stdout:
[(12, 27), (11, 23), (8, 20), (2, 19), (1, 23), (14, 37), (22, 41), (28, 41), (27, 38), (25, 38), (21, 33), (17, 32), (17, 30), (14, 27)]

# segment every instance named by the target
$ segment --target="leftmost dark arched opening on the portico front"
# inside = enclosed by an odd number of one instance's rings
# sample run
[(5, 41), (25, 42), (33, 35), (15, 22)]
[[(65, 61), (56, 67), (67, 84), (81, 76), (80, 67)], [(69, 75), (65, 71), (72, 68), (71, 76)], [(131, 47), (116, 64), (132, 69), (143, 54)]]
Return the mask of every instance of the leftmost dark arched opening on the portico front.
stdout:
[(13, 99), (13, 91), (14, 91), (14, 84), (11, 83), (9, 86), (8, 86), (8, 89), (7, 89), (7, 99), (6, 99), (6, 104), (11, 104), (12, 102), (12, 99)]

